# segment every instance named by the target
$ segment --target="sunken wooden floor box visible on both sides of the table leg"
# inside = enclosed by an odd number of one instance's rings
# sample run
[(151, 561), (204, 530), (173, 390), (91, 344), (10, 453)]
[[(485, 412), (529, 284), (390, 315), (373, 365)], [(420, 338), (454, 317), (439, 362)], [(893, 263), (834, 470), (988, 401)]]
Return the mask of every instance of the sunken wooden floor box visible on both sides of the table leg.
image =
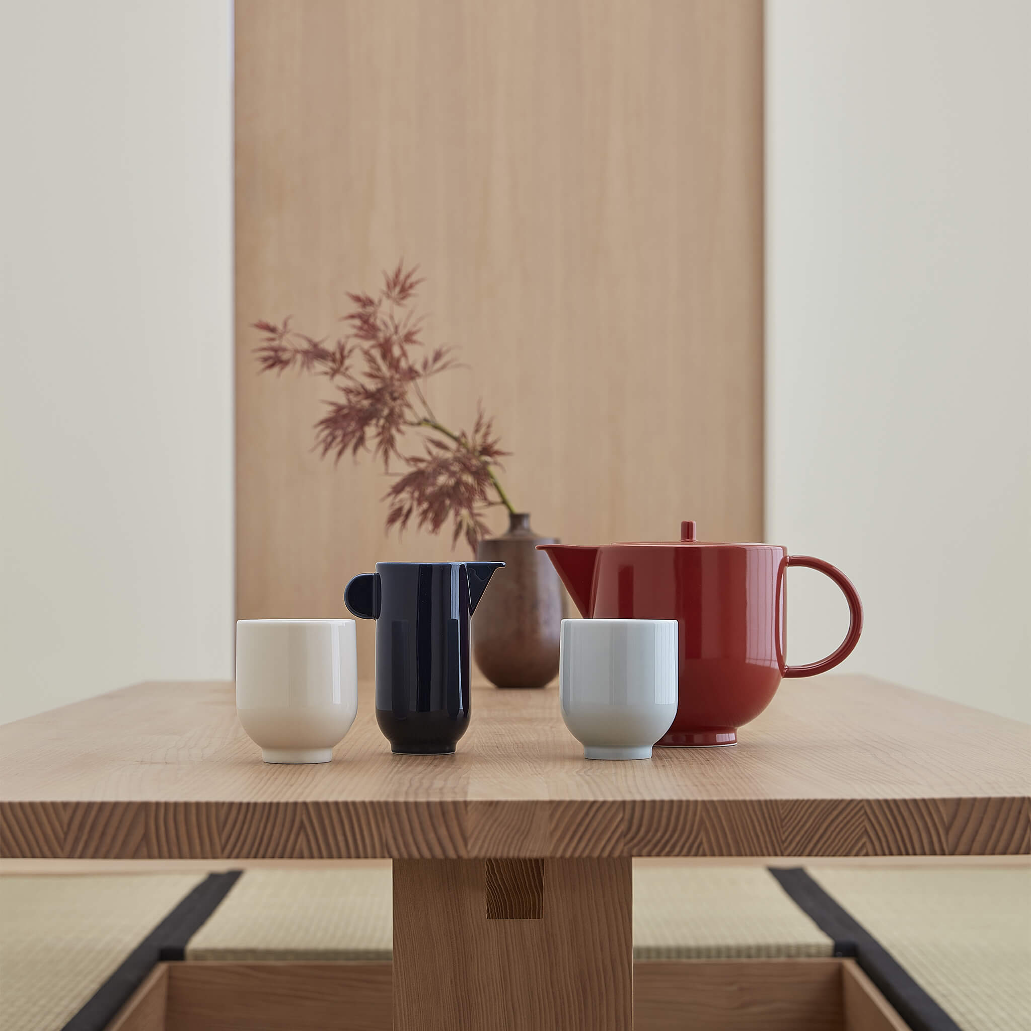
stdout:
[[(162, 963), (107, 1031), (390, 1031), (392, 964)], [(638, 960), (636, 1031), (905, 1031), (849, 959)]]

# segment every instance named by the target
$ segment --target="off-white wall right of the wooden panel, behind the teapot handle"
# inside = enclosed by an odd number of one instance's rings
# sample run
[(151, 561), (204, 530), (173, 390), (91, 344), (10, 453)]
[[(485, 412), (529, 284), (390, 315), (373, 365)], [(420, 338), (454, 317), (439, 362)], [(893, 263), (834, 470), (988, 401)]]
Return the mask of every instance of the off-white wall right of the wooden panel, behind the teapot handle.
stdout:
[(767, 2), (767, 537), (855, 579), (843, 669), (1025, 720), (1029, 51), (1027, 0)]

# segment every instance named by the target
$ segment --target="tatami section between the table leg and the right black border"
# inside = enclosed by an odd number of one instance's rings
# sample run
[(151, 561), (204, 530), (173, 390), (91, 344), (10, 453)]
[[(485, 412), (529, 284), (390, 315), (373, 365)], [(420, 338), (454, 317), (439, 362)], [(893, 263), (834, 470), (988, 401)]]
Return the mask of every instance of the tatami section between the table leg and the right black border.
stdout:
[(634, 868), (634, 959), (833, 954), (834, 942), (763, 867)]

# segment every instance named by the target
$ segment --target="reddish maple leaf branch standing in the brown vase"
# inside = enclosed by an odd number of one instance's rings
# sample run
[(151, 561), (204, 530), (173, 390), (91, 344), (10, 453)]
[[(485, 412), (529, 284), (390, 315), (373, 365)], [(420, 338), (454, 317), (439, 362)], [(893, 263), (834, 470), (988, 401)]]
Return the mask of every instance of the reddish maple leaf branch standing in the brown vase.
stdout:
[[(281, 324), (255, 323), (263, 334), (256, 356), (261, 372), (297, 369), (333, 383), (337, 396), (327, 400), (328, 410), (315, 423), (315, 446), (324, 458), (332, 455), (339, 462), (348, 453), (357, 458), (371, 451), (386, 471), (391, 460), (407, 468), (385, 497), (391, 502), (388, 529), (401, 532), (414, 521), (439, 533), (451, 519), (452, 546), (465, 537), (475, 551), (488, 532), (486, 508), (503, 504), (514, 511), (494, 471), (508, 453), (481, 409), (472, 433), (455, 433), (426, 403), (423, 383), (458, 363), (452, 347), (426, 350), (423, 319), (413, 307), (423, 282), (417, 272), (398, 262), (384, 272), (376, 296), (348, 293), (352, 308), (341, 319), (346, 332), (331, 344), (292, 329), (289, 318)], [(414, 348), (424, 348), (422, 355)], [(409, 430), (423, 431), (423, 454), (402, 453)]]

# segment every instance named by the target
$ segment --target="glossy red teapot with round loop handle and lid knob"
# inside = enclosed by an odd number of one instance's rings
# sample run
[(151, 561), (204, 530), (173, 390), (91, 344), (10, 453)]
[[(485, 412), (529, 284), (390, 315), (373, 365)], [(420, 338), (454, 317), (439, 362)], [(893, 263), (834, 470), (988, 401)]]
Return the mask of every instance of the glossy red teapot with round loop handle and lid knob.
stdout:
[[(693, 522), (680, 524), (677, 541), (537, 550), (547, 553), (581, 616), (679, 624), (676, 719), (660, 745), (735, 744), (737, 728), (766, 708), (781, 677), (833, 669), (863, 630), (859, 595), (830, 563), (778, 544), (695, 540)], [(841, 645), (806, 666), (785, 661), (790, 566), (826, 573), (849, 602)]]

